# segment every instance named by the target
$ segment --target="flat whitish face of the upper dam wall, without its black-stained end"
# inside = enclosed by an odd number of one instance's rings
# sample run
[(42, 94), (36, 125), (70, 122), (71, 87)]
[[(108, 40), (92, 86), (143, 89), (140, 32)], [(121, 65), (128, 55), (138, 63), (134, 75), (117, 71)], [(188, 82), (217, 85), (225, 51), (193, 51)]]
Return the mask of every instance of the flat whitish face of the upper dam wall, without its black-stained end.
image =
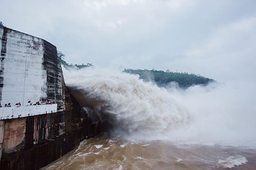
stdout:
[(47, 98), (43, 39), (0, 26), (0, 102), (26, 105)]

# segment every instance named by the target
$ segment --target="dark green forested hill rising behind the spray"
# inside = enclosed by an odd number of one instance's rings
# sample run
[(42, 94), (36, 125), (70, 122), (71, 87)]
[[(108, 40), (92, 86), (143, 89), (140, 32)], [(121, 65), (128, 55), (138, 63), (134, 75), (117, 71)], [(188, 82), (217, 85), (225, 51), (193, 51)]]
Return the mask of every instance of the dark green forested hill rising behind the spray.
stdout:
[(177, 73), (167, 70), (166, 72), (161, 70), (133, 70), (125, 69), (123, 72), (130, 74), (138, 74), (140, 79), (145, 82), (155, 81), (158, 86), (167, 85), (170, 82), (177, 82), (181, 88), (187, 88), (192, 85), (207, 85), (213, 82), (213, 79), (209, 79), (200, 75), (188, 74), (188, 73)]

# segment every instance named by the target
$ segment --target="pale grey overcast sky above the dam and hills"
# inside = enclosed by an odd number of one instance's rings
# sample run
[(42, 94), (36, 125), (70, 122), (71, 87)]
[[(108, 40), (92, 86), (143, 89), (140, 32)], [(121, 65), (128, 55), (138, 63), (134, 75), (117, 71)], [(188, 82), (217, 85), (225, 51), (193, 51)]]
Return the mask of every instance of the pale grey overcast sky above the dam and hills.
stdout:
[(255, 0), (6, 0), (5, 26), (41, 37), (69, 63), (253, 81)]

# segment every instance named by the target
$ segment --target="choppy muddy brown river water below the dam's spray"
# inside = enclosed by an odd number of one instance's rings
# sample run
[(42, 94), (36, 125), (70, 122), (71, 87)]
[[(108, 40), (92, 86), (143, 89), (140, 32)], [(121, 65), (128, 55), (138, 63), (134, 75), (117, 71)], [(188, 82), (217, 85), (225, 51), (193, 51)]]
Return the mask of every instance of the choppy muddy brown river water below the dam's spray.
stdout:
[(44, 167), (53, 169), (256, 169), (256, 150), (232, 146), (132, 143), (101, 135)]

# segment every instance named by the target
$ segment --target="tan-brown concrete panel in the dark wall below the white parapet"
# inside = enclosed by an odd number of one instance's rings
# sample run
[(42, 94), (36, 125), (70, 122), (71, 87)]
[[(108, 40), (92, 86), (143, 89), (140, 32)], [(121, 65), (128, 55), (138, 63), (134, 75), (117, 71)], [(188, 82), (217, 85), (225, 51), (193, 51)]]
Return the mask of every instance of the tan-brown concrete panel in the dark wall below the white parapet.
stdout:
[(3, 152), (9, 153), (25, 146), (26, 118), (10, 119), (4, 123)]

